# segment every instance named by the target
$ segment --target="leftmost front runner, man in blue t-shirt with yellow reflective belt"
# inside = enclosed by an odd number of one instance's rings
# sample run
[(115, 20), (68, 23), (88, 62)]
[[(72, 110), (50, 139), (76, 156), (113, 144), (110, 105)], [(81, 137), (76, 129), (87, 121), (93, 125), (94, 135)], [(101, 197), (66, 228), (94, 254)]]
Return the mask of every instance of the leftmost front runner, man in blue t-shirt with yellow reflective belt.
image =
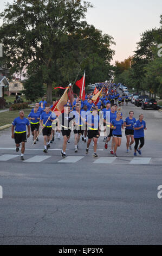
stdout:
[[(28, 135), (27, 135), (27, 128), (28, 126)], [(15, 129), (15, 133), (14, 133)], [(20, 143), (21, 143), (21, 160), (24, 160), (24, 151), (25, 151), (25, 142), (27, 142), (27, 138), (30, 137), (30, 124), (29, 120), (24, 117), (24, 111), (21, 110), (19, 112), (19, 117), (15, 118), (14, 121), (12, 121), (12, 139), (15, 139), (16, 144), (16, 152), (20, 149)]]

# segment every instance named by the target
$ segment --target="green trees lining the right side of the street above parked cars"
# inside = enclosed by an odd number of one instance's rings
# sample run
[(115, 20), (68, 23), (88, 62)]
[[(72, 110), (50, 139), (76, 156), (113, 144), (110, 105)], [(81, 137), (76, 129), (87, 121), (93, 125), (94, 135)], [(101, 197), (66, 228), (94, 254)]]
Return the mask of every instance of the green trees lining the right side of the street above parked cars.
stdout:
[[(162, 25), (162, 15), (160, 16)], [(145, 31), (134, 56), (115, 63), (115, 83), (121, 82), (137, 92), (146, 90), (162, 99), (162, 26)]]

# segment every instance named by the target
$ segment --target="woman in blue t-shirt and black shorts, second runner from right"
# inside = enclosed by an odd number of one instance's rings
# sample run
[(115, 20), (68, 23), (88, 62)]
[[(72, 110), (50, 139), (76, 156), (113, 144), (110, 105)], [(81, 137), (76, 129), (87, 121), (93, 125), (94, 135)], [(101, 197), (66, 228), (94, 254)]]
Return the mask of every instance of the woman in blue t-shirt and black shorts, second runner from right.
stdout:
[[(125, 136), (127, 138), (127, 143), (126, 143), (127, 153), (128, 153), (128, 148), (132, 150), (131, 145), (134, 143), (134, 124), (136, 120), (133, 117), (133, 115), (134, 115), (134, 112), (130, 111), (129, 117), (127, 117), (124, 121), (124, 126), (126, 127)], [(130, 139), (131, 139), (131, 143), (130, 143)]]

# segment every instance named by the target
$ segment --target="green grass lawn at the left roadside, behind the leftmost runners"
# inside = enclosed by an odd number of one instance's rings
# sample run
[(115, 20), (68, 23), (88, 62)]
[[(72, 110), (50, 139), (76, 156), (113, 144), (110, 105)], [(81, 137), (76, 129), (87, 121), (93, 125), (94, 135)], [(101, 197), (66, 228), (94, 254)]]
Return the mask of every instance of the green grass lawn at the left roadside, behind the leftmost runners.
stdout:
[[(30, 109), (23, 109), (25, 117), (28, 117), (28, 114), (31, 112)], [(12, 121), (16, 118), (19, 117), (19, 110), (16, 111), (6, 111), (0, 113), (0, 126), (6, 125), (6, 124), (11, 124)]]

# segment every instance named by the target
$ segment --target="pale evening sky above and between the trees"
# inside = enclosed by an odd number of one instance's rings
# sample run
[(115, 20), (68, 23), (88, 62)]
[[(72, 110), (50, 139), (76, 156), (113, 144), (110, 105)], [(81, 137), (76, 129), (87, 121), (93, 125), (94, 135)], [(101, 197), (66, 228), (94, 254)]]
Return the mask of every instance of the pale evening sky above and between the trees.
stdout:
[[(133, 55), (140, 34), (148, 29), (160, 27), (162, 14), (161, 0), (88, 0), (94, 5), (86, 15), (87, 22), (112, 35), (116, 46), (115, 60), (120, 62)], [(0, 12), (4, 10), (4, 2), (0, 0)], [(0, 25), (2, 22), (0, 22)], [(162, 43), (162, 42), (161, 42)]]

